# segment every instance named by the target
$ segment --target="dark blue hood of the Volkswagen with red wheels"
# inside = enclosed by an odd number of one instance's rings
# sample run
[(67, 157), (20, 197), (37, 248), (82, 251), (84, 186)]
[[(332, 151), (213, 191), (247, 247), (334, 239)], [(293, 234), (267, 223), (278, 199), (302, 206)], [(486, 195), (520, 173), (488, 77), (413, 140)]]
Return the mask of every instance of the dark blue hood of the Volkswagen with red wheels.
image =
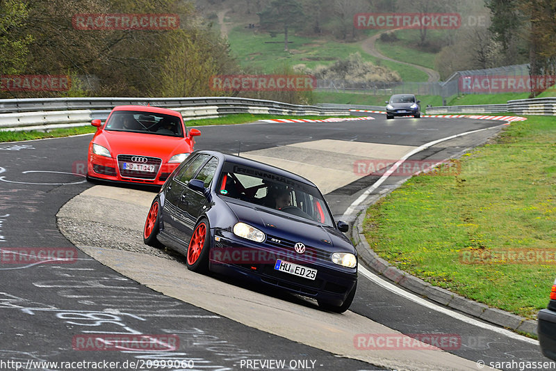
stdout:
[[(239, 221), (250, 224), (266, 235), (293, 242), (302, 242), (308, 246), (329, 251), (353, 252), (354, 247), (341, 232), (333, 227), (322, 226), (311, 221), (288, 215), (278, 210), (259, 207), (240, 200), (226, 200), (227, 205), (236, 214)], [(330, 243), (328, 244), (327, 242)]]

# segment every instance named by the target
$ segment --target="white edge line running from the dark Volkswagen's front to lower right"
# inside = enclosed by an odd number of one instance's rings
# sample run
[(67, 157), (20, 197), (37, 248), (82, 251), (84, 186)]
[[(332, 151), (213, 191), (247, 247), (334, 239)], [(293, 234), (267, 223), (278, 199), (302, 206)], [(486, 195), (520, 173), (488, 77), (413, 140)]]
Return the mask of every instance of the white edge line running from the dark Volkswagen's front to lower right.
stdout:
[(500, 328), (498, 326), (494, 326), (492, 324), (486, 324), (486, 323), (481, 322), (477, 319), (473, 319), (471, 317), (467, 317), (466, 315), (462, 315), (461, 313), (457, 313), (457, 312), (455, 312), (451, 309), (443, 308), (443, 307), (439, 306), (438, 304), (431, 303), (430, 301), (427, 301), (427, 300), (425, 300), (421, 297), (418, 297), (416, 294), (411, 294), (410, 292), (402, 290), (400, 287), (398, 287), (396, 285), (393, 285), (392, 283), (384, 281), (384, 279), (380, 278), (376, 274), (373, 274), (372, 272), (370, 272), (368, 269), (366, 269), (362, 265), (358, 265), (357, 270), (361, 274), (363, 274), (363, 276), (366, 276), (366, 278), (368, 278), (370, 281), (373, 281), (373, 283), (376, 283), (380, 287), (383, 287), (384, 289), (389, 290), (389, 291), (393, 292), (394, 294), (398, 294), (401, 297), (405, 297), (406, 299), (414, 301), (415, 303), (418, 303), (420, 306), (424, 306), (426, 308), (436, 310), (436, 312), (443, 313), (445, 315), (449, 315), (452, 318), (459, 319), (461, 322), (466, 322), (468, 324), (472, 324), (473, 326), (481, 327), (482, 329), (485, 329), (485, 330), (494, 331), (496, 333), (499, 333), (500, 335), (507, 336), (508, 338), (521, 340), (521, 341), (524, 341), (524, 342), (529, 342), (530, 344), (533, 344), (533, 345), (539, 345), (538, 340), (534, 340), (534, 339), (531, 339), (531, 338), (526, 338), (525, 336), (518, 335), (517, 333), (514, 333), (512, 331), (508, 331), (506, 329), (502, 329), (502, 328)]

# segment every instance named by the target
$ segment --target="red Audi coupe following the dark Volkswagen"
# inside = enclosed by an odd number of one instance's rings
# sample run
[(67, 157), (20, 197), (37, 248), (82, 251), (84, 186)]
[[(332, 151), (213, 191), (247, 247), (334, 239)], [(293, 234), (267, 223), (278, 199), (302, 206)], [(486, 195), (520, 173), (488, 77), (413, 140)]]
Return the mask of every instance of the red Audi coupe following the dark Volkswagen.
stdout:
[(181, 113), (152, 106), (116, 106), (89, 143), (87, 178), (140, 184), (165, 182), (195, 145)]

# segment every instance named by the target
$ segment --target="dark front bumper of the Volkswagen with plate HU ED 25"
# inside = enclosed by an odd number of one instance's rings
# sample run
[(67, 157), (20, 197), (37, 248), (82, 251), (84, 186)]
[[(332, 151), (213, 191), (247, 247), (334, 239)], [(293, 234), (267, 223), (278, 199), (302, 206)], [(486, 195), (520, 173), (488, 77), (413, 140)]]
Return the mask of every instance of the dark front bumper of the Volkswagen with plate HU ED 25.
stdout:
[[(341, 267), (314, 255), (303, 256), (287, 248), (256, 244), (224, 230), (214, 229), (211, 236), (209, 269), (217, 273), (280, 287), (337, 306), (357, 283), (357, 267)], [(316, 278), (311, 280), (278, 271), (277, 259), (317, 269)]]

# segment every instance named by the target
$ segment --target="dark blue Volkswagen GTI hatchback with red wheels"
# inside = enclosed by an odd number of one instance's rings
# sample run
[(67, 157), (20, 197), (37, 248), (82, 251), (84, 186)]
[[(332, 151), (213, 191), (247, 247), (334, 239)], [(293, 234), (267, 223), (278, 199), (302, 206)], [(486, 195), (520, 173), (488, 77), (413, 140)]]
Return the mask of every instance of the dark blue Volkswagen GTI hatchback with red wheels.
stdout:
[(169, 246), (188, 269), (247, 278), (343, 313), (357, 287), (357, 252), (304, 177), (214, 151), (194, 152), (153, 200), (145, 244)]

